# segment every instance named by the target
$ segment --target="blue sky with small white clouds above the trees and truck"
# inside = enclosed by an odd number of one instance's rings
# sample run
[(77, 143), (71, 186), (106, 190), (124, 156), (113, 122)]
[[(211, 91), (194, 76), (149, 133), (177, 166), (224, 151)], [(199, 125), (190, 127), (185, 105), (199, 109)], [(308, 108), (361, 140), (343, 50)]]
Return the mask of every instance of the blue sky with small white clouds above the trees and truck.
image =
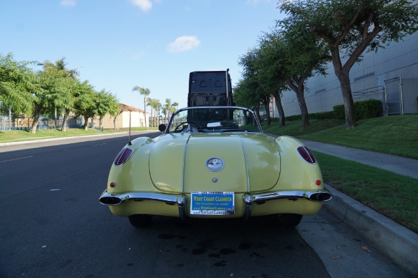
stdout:
[[(144, 108), (135, 85), (187, 105), (189, 72), (230, 69), (283, 17), (276, 0), (13, 0), (0, 4), (0, 53), (65, 57), (96, 90)], [(148, 108), (149, 109), (149, 108)], [(147, 109), (147, 110), (148, 110)]]

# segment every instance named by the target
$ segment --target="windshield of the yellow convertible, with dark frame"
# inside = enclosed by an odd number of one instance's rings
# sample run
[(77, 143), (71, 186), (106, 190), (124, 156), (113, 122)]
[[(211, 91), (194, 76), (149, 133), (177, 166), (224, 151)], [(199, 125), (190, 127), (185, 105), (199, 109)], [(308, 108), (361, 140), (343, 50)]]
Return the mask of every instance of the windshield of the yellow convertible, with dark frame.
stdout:
[(177, 111), (171, 132), (262, 132), (252, 111), (239, 107), (194, 107)]

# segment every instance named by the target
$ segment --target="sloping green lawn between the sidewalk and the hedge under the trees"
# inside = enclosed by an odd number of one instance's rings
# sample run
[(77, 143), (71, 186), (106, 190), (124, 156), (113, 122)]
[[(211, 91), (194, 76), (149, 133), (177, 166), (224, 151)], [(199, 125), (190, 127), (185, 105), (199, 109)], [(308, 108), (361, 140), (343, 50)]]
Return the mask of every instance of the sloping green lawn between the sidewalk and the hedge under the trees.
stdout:
[(286, 122), (284, 127), (277, 123), (263, 127), (267, 133), (418, 159), (418, 115), (362, 120), (354, 129), (346, 129), (339, 120), (310, 122), (306, 129), (301, 128), (300, 121)]

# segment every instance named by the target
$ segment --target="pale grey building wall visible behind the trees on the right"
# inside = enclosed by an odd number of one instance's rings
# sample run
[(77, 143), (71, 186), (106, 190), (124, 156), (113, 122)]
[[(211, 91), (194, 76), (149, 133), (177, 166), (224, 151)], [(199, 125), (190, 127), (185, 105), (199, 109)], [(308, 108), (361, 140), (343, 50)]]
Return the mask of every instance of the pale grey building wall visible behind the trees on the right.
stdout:
[[(418, 32), (377, 53), (364, 53), (350, 70), (350, 83), (354, 101), (380, 99), (385, 115), (418, 113)], [(333, 106), (343, 104), (332, 63), (326, 76), (309, 78), (306, 88), (309, 113), (332, 111)], [(281, 103), (286, 116), (300, 114), (295, 92), (284, 92)]]

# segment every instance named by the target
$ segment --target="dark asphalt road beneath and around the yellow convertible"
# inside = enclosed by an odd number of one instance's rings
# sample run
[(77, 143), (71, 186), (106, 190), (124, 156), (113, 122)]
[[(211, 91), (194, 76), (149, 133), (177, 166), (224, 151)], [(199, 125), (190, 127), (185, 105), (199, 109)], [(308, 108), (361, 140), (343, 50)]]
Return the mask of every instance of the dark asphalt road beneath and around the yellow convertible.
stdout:
[(75, 141), (0, 150), (0, 277), (406, 277), (324, 210), (135, 229), (98, 202), (127, 138)]

